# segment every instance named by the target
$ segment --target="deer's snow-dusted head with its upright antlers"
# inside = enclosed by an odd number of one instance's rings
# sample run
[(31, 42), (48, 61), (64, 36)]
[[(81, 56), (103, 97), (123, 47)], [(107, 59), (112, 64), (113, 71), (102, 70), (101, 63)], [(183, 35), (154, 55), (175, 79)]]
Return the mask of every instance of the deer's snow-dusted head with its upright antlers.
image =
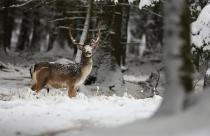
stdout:
[(96, 39), (91, 39), (89, 44), (80, 44), (79, 42), (76, 41), (76, 39), (72, 36), (71, 32), (71, 27), (69, 27), (69, 36), (74, 45), (77, 46), (78, 49), (82, 51), (82, 54), (89, 58), (92, 57), (92, 50), (95, 49), (98, 46), (98, 42), (100, 39), (100, 29), (99, 27), (97, 28), (97, 38)]

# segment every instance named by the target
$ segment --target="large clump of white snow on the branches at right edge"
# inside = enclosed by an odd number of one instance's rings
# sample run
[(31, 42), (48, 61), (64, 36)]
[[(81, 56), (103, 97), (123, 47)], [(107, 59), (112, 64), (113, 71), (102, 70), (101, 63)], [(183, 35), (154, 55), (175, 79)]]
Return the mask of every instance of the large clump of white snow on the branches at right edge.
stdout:
[[(201, 48), (210, 44), (210, 4), (203, 8), (198, 19), (192, 23), (192, 43)], [(204, 50), (210, 50), (209, 45)]]

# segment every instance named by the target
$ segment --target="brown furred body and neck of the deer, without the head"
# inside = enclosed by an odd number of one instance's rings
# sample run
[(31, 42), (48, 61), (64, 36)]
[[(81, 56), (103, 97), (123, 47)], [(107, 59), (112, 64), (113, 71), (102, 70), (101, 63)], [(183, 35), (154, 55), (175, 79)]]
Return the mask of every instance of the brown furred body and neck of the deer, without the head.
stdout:
[(37, 93), (43, 88), (68, 88), (69, 97), (75, 97), (79, 86), (85, 81), (92, 70), (92, 58), (82, 55), (80, 64), (75, 72), (71, 68), (62, 72), (59, 68), (63, 65), (57, 63), (40, 62), (34, 65), (32, 79), (34, 84), (31, 89)]

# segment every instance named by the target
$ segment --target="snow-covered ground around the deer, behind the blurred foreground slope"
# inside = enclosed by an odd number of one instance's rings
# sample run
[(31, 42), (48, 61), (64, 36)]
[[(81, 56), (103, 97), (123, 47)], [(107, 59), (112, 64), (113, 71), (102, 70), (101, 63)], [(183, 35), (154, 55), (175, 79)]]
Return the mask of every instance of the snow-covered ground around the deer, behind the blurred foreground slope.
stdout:
[(162, 98), (135, 99), (78, 93), (70, 99), (65, 89), (30, 89), (28, 68), (9, 66), (0, 71), (0, 135), (41, 135), (83, 127), (115, 127), (150, 117)]

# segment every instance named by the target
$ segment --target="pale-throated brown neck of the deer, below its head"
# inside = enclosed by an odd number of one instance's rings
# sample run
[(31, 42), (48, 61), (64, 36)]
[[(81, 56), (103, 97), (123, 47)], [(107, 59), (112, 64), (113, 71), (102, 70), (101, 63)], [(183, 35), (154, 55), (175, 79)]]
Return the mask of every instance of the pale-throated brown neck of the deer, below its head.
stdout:
[(92, 64), (93, 64), (92, 57), (85, 57), (84, 55), (82, 55), (82, 59), (80, 62), (82, 77), (86, 78), (90, 74), (92, 70)]

